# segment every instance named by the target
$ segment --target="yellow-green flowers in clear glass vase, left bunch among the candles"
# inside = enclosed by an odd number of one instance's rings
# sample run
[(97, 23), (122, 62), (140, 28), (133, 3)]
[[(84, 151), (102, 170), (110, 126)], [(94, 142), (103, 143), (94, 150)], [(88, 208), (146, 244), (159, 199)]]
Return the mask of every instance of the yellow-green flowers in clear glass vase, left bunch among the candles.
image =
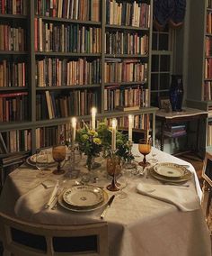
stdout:
[(92, 168), (93, 157), (100, 155), (102, 151), (102, 140), (98, 132), (90, 130), (84, 123), (84, 127), (76, 131), (76, 142), (79, 144), (79, 150), (87, 155), (88, 169)]

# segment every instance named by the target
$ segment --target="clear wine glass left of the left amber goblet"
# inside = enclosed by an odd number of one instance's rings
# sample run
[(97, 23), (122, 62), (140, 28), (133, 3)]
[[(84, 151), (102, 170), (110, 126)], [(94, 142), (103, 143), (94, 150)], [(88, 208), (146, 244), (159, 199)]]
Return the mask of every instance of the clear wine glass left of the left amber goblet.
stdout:
[(40, 170), (37, 177), (43, 177), (46, 176), (47, 173), (45, 170), (48, 169), (49, 165), (49, 155), (47, 150), (39, 150), (36, 152), (36, 168)]

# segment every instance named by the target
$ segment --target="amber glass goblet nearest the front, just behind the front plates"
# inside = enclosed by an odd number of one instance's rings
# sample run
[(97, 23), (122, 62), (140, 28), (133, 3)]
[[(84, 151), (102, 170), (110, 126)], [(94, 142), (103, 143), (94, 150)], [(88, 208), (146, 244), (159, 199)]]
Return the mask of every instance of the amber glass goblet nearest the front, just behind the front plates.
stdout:
[(110, 191), (119, 191), (119, 183), (116, 181), (116, 177), (121, 170), (120, 159), (114, 155), (107, 159), (107, 172), (112, 177), (111, 184), (107, 186)]

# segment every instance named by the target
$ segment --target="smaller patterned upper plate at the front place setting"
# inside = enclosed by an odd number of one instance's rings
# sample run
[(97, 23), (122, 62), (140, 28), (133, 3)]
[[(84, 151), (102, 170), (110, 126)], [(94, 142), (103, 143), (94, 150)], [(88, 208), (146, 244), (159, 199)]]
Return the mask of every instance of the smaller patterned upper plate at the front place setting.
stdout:
[(68, 188), (63, 194), (66, 204), (75, 207), (99, 205), (104, 199), (103, 190), (99, 187), (82, 185)]

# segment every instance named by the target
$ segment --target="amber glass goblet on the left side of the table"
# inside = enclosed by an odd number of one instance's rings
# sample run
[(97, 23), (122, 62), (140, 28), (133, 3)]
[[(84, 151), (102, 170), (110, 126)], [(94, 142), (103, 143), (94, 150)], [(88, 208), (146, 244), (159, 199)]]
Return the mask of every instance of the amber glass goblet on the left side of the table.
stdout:
[(54, 174), (63, 174), (64, 169), (61, 169), (61, 162), (66, 159), (66, 145), (59, 144), (52, 147), (52, 157), (57, 162), (57, 169), (53, 170)]

